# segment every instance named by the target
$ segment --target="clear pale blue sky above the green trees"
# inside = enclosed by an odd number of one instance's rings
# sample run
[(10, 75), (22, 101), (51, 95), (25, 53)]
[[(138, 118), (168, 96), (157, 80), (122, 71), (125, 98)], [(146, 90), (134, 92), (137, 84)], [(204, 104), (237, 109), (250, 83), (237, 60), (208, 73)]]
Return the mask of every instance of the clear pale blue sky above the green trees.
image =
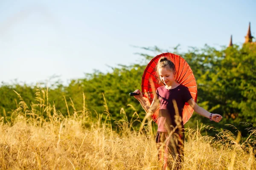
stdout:
[(0, 0), (0, 82), (64, 84), (141, 59), (133, 46), (181, 51), (241, 45), (255, 0)]

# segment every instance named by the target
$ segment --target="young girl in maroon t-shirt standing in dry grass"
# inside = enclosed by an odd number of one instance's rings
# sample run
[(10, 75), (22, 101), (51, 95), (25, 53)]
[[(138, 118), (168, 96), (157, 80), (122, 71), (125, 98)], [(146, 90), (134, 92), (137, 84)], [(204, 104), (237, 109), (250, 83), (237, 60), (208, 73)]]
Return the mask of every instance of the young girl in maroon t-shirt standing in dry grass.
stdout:
[[(163, 169), (166, 169), (166, 167), (180, 169), (184, 157), (182, 112), (185, 102), (189, 103), (195, 112), (215, 122), (220, 122), (222, 116), (209, 113), (195, 103), (189, 89), (175, 81), (176, 71), (172, 61), (166, 57), (160, 58), (157, 63), (156, 72), (164, 85), (157, 88), (151, 105), (143, 99), (142, 92), (139, 89), (134, 91), (134, 93), (139, 94), (134, 97), (140, 102), (146, 113), (154, 113), (160, 103), (156, 136), (158, 158), (162, 158), (160, 148), (163, 146)], [(175, 167), (172, 167), (171, 161), (168, 158), (169, 156), (174, 158)]]

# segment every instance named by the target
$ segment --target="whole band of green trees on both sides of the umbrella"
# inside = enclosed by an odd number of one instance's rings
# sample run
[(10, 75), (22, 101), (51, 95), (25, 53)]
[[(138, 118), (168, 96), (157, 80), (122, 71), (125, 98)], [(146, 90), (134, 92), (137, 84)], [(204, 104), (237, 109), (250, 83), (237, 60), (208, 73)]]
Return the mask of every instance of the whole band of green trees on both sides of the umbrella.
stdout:
[[(196, 128), (195, 125), (198, 121), (214, 125), (219, 129), (223, 128), (225, 124), (242, 126), (239, 122), (250, 122), (255, 126), (256, 45), (245, 44), (242, 47), (234, 45), (229, 48), (222, 47), (221, 50), (205, 45), (202, 49), (190, 48), (186, 53), (179, 53), (178, 47), (179, 45), (171, 51), (161, 50), (156, 46), (143, 49), (155, 54), (172, 52), (186, 59), (198, 84), (198, 105), (207, 111), (224, 116), (224, 119), (217, 124), (194, 113), (186, 125)], [(118, 65), (106, 74), (94, 71), (93, 74), (86, 74), (83, 79), (72, 80), (67, 86), (55, 82), (49, 87), (49, 101), (41, 102), (54, 104), (55, 108), (64, 116), (68, 116), (73, 111), (83, 110), (81, 107), (85, 104), (85, 108), (92, 111), (92, 115), (95, 116), (96, 113), (105, 112), (106, 100), (108, 111), (116, 120), (124, 116), (120, 112), (121, 108), (125, 109), (127, 119), (131, 119), (134, 114), (133, 108), (128, 106), (131, 104), (143, 119), (145, 116), (143, 108), (134, 97), (129, 96), (129, 93), (140, 88), (146, 63), (154, 56), (140, 55), (142, 56), (140, 64)], [(30, 105), (38, 102), (35, 101), (37, 89), (38, 87), (19, 85), (18, 83), (15, 85), (2, 84), (0, 87), (0, 117), (5, 114), (6, 117), (10, 117), (12, 111), (18, 108), (19, 97), (14, 90), (31, 108)]]

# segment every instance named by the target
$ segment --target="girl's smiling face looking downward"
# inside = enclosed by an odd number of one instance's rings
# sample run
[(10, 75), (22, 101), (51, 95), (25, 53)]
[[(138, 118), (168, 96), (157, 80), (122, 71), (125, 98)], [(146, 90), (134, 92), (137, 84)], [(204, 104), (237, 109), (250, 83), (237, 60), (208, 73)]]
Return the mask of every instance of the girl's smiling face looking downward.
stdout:
[(164, 68), (159, 68), (158, 73), (161, 81), (165, 85), (171, 85), (173, 82), (175, 82), (176, 72), (173, 71), (171, 68), (169, 68), (169, 66)]

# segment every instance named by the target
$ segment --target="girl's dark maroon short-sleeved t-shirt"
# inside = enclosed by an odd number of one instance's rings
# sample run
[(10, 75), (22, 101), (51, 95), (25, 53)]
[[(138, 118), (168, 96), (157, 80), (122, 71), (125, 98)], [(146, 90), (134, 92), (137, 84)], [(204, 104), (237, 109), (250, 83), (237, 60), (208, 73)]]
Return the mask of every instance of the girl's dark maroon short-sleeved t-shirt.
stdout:
[[(157, 98), (160, 99), (159, 118), (157, 123), (158, 131), (168, 132), (176, 126), (173, 100), (175, 100), (177, 103), (178, 113), (182, 119), (182, 112), (185, 102), (188, 102), (192, 96), (189, 89), (184, 85), (179, 85), (174, 89), (166, 89), (165, 86), (161, 86), (157, 88), (156, 95)], [(182, 128), (184, 128), (183, 122), (181, 122), (181, 125)]]

